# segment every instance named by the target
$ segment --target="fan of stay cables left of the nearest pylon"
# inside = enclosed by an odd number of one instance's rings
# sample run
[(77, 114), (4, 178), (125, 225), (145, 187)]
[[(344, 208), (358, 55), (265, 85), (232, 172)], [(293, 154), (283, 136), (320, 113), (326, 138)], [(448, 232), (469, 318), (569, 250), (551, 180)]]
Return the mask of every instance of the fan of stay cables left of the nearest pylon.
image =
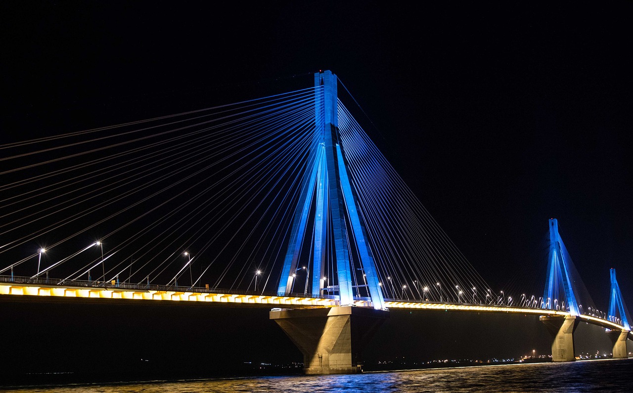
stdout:
[(257, 268), (263, 290), (316, 145), (314, 97), (311, 87), (0, 146), (0, 254), (13, 261), (0, 274), (238, 289)]

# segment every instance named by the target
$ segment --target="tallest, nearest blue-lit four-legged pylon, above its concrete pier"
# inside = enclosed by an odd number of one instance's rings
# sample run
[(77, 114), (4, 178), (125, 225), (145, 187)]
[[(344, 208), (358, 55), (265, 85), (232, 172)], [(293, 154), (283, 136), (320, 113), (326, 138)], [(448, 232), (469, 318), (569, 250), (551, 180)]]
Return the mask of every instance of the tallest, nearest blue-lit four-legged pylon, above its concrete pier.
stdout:
[[(330, 71), (315, 73), (315, 122), (316, 137), (320, 143), (316, 151), (311, 152), (308, 158), (308, 163), (312, 163), (313, 166), (301, 185), (301, 195), (294, 214), (278, 293), (284, 296), (292, 290), (294, 273), (298, 270), (299, 253), (306, 235), (312, 198), (313, 194), (316, 194), (315, 229), (312, 234), (314, 239), (312, 294), (317, 295), (322, 288), (324, 262), (328, 255), (325, 244), (327, 235), (331, 233), (341, 306), (353, 304), (354, 300), (348, 242), (355, 239), (373, 307), (384, 309), (384, 298), (368, 242), (367, 230), (363, 217), (358, 211), (354, 189), (349, 182), (344, 151), (339, 143), (337, 79), (336, 75)], [(348, 236), (346, 217), (349, 218), (353, 238)], [(332, 223), (331, 228), (328, 228), (328, 222)]]

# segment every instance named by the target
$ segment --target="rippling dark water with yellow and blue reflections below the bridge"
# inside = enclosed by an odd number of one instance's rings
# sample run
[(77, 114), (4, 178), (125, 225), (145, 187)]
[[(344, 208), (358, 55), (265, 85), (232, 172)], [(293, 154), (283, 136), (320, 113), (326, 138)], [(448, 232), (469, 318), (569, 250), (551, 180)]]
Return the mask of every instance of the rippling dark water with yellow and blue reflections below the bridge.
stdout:
[(392, 371), (357, 375), (219, 378), (6, 390), (24, 393), (630, 392), (633, 359)]

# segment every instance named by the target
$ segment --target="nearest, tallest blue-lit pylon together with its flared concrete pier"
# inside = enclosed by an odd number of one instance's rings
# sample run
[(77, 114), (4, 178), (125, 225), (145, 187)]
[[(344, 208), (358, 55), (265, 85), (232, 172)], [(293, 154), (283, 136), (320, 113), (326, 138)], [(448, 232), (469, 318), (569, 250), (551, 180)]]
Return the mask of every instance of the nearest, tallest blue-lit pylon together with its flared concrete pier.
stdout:
[[(358, 197), (349, 180), (338, 127), (337, 78), (330, 71), (315, 73), (316, 149), (308, 156), (308, 168), (294, 212), (291, 237), (279, 280), (279, 296), (292, 292), (299, 254), (306, 238), (310, 212), (314, 211), (312, 295), (319, 296), (326, 258), (334, 247), (339, 307), (270, 311), (270, 319), (303, 353), (308, 374), (358, 373), (361, 350), (389, 316), (370, 247)], [(316, 201), (313, 203), (313, 197)], [(349, 222), (346, 221), (346, 218)], [(329, 225), (331, 224), (331, 225)], [(348, 234), (348, 228), (353, 236)], [(329, 242), (328, 239), (331, 239)], [(373, 309), (353, 307), (353, 266), (349, 246), (354, 244), (372, 299)], [(307, 280), (307, 278), (306, 278)], [(307, 287), (307, 283), (306, 283)]]

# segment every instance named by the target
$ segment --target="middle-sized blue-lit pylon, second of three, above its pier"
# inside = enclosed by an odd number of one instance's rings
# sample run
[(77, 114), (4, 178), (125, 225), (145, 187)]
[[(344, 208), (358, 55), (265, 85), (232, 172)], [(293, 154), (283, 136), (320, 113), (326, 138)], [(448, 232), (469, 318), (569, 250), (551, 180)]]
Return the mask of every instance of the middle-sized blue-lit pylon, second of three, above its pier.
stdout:
[[(565, 300), (571, 315), (579, 315), (578, 302), (573, 291), (572, 278), (570, 275), (570, 261), (567, 261), (563, 253), (563, 240), (558, 234), (558, 221), (556, 218), (549, 220), (549, 256), (548, 275), (543, 293), (543, 307), (555, 309), (555, 299), (558, 288), (562, 285), (565, 292)], [(561, 299), (562, 300), (562, 299)]]

